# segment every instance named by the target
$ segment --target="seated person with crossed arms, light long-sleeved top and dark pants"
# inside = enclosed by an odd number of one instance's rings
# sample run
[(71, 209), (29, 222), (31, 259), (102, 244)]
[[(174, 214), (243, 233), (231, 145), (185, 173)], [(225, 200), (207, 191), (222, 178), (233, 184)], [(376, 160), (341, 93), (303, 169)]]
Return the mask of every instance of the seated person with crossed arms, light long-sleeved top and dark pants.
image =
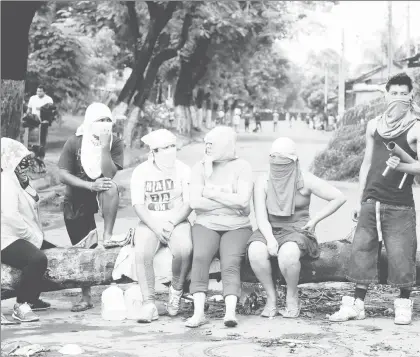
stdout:
[(209, 270), (220, 256), (223, 295), (226, 304), (224, 324), (237, 325), (236, 303), (241, 295), (240, 266), (251, 236), (249, 220), (253, 189), (251, 165), (236, 156), (236, 133), (229, 127), (216, 127), (205, 137), (206, 155), (191, 175), (190, 204), (197, 214), (192, 227), (193, 263), (190, 292), (194, 315), (187, 327), (207, 322), (204, 315)]

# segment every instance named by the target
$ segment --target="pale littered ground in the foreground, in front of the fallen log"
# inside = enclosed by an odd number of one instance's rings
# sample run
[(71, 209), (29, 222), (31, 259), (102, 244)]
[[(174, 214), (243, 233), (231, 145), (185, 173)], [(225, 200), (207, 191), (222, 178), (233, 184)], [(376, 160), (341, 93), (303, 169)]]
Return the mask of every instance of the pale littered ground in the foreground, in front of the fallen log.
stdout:
[[(124, 290), (129, 285), (121, 286)], [(162, 314), (158, 321), (104, 321), (100, 315), (100, 294), (106, 287), (95, 287), (95, 308), (71, 313), (77, 290), (43, 294), (53, 308), (41, 312), (41, 322), (2, 327), (2, 350), (7, 343), (25, 341), (50, 349), (47, 357), (61, 356), (65, 344), (77, 344), (84, 356), (381, 356), (415, 357), (420, 355), (420, 291), (413, 294), (414, 322), (410, 326), (393, 323), (393, 299), (397, 292), (375, 286), (366, 300), (368, 317), (363, 321), (330, 323), (328, 314), (336, 311), (341, 296), (350, 294), (351, 284), (307, 284), (300, 289), (303, 309), (298, 319), (261, 318), (261, 307), (252, 311), (238, 309), (239, 325), (223, 325), (223, 305), (210, 305), (210, 323), (197, 329), (184, 326), (193, 306), (183, 301), (182, 312), (175, 318)], [(257, 288), (258, 292), (258, 288)], [(212, 292), (217, 294), (218, 292)], [(211, 295), (211, 294), (210, 294)], [(263, 294), (259, 301), (264, 302)], [(279, 307), (284, 289), (279, 292)], [(166, 292), (158, 294), (158, 306), (164, 313)], [(11, 300), (5, 308), (11, 308)]]

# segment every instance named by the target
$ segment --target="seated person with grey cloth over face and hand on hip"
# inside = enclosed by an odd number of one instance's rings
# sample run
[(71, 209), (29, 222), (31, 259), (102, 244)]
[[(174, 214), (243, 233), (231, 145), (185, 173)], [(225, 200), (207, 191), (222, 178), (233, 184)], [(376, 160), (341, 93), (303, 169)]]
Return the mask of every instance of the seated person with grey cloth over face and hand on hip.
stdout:
[[(277, 264), (287, 284), (283, 317), (296, 318), (301, 304), (298, 283), (300, 260), (318, 258), (315, 227), (337, 211), (346, 198), (334, 186), (302, 172), (295, 143), (286, 137), (274, 141), (270, 170), (260, 176), (254, 188), (254, 209), (258, 230), (249, 240), (248, 257), (255, 276), (267, 293), (263, 317), (277, 315), (277, 294), (272, 268)], [(312, 195), (329, 201), (314, 216), (309, 215)]]

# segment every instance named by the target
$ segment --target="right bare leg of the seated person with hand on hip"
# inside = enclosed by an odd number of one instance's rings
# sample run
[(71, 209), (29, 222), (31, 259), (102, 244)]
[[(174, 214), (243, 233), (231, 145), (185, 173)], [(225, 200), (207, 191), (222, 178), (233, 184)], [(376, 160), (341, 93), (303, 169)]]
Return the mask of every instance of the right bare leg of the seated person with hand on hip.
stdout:
[(294, 242), (287, 242), (281, 246), (277, 257), (280, 271), (287, 283), (286, 306), (289, 309), (296, 309), (299, 305), (300, 255), (299, 246)]

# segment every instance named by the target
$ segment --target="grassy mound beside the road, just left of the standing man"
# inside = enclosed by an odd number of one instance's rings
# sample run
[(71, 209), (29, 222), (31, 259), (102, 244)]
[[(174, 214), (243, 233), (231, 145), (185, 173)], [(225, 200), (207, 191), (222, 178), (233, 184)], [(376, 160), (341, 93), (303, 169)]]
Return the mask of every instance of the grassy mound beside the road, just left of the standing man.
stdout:
[(311, 172), (325, 180), (356, 181), (365, 153), (365, 125), (338, 129), (325, 151), (311, 165)]

